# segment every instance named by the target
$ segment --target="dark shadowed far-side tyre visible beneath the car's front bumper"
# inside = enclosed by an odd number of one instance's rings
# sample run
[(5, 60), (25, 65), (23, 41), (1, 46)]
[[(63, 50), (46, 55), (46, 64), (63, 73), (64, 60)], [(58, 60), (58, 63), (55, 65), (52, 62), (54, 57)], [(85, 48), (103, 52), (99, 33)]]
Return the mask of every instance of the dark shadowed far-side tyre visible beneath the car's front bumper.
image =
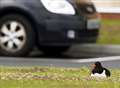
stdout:
[(59, 55), (66, 52), (70, 46), (40, 46), (39, 49), (48, 55)]

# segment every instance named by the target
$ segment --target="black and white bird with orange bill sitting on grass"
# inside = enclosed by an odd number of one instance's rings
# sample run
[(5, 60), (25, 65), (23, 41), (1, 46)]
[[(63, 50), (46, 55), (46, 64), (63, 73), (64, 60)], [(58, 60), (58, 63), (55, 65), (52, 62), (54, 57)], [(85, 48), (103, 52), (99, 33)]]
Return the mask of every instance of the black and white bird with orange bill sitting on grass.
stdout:
[(107, 78), (111, 73), (108, 69), (104, 68), (100, 62), (95, 62), (92, 65), (91, 77)]

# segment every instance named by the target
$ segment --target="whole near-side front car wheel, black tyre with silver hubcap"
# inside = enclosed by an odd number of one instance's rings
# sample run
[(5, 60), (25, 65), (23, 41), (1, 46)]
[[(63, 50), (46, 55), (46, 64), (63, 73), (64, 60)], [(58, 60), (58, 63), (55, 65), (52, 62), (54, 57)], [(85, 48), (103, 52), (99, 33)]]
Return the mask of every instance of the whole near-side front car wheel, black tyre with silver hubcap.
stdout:
[(26, 56), (34, 47), (34, 32), (31, 23), (18, 14), (0, 19), (0, 54)]

